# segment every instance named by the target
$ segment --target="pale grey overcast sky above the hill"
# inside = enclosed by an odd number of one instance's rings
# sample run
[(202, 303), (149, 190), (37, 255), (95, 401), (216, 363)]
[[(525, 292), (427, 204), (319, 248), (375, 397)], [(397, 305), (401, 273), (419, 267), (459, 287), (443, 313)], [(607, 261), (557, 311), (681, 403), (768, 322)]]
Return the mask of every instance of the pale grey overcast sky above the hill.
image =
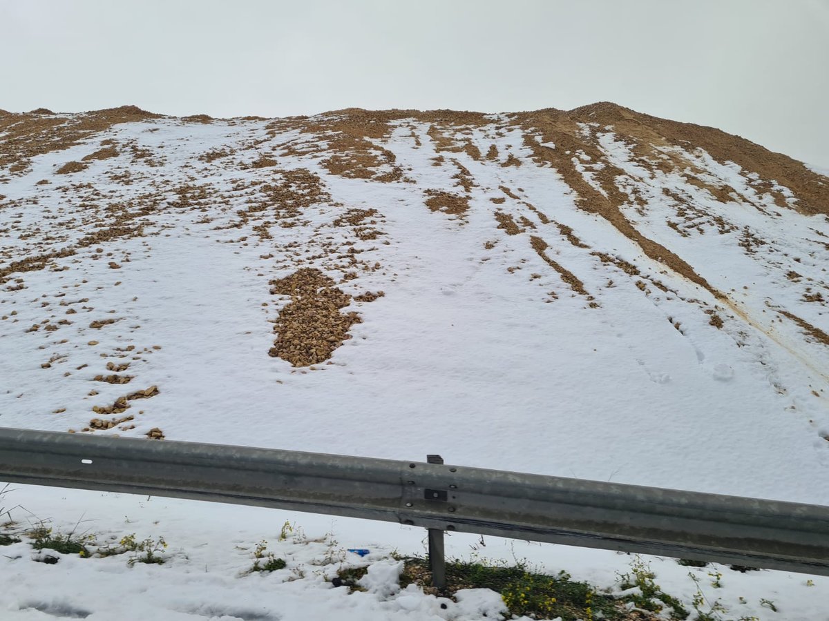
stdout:
[(613, 101), (829, 166), (829, 0), (0, 0), (0, 108)]

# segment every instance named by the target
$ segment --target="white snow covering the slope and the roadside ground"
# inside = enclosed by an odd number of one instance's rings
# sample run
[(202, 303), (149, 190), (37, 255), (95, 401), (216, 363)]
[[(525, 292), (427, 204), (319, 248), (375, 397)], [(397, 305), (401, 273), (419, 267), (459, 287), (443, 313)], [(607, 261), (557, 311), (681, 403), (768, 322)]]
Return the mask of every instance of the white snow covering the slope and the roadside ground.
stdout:
[[(620, 188), (635, 185), (647, 203), (626, 208), (628, 219), (724, 291), (724, 301), (578, 209), (563, 179), (516, 147), (517, 130), (498, 126), (504, 119), (492, 122), (471, 136), (481, 152), (496, 144), (499, 161), (443, 154), (474, 179), (463, 216), (424, 205), (426, 189), (457, 191), (458, 169), (451, 161), (434, 165), (439, 152), (428, 125), (415, 121), (398, 122), (382, 144), (408, 181), (345, 178), (314, 153), (279, 153), (309, 138), (274, 136), (264, 121), (169, 118), (116, 125), (2, 177), (0, 239), (20, 258), (63, 248), (95, 229), (85, 224), (85, 200), (115, 204), (160, 193), (163, 206), (143, 218), (143, 236), (78, 248), (0, 285), (0, 426), (81, 433), (99, 416), (92, 407), (156, 386), (158, 395), (114, 415), (133, 420), (94, 433), (141, 437), (160, 428), (167, 440), (395, 460), (439, 453), (458, 465), (829, 504), (829, 349), (777, 312), (829, 331), (826, 303), (804, 301), (819, 291), (829, 296), (829, 220), (780, 209), (739, 166), (686, 152), (736, 193), (734, 202), (718, 202), (679, 174), (638, 168), (628, 147), (602, 130), (608, 161), (628, 175)], [(414, 136), (422, 146), (414, 146)], [(122, 152), (69, 179), (55, 174), (104, 138), (152, 150), (157, 166)], [(217, 148), (234, 153), (197, 159)], [(278, 167), (241, 166), (258, 153), (274, 156)], [(524, 165), (497, 166), (508, 155)], [(595, 164), (577, 166), (588, 178)], [(113, 181), (118, 168), (129, 171), (131, 184)], [(278, 181), (279, 170), (296, 169), (320, 176), (330, 199), (303, 209), (291, 226), (270, 223), (270, 238), (259, 238), (253, 221), (235, 228), (237, 210), (255, 190), (251, 182)], [(41, 179), (51, 183), (36, 185)], [(198, 209), (169, 205), (184, 183), (212, 194)], [(102, 195), (84, 199), (82, 188), (61, 190), (83, 184)], [(691, 197), (699, 211), (692, 224), (677, 218), (662, 188)], [(346, 209), (376, 209), (381, 236), (361, 240), (334, 225)], [(497, 228), (495, 209), (532, 226), (507, 235)], [(727, 224), (725, 233), (718, 222)], [(584, 246), (568, 242), (556, 223)], [(746, 231), (763, 241), (753, 253), (739, 244)], [(547, 243), (547, 255), (584, 283), (589, 298), (533, 251), (530, 235)], [(353, 244), (365, 268), (342, 281), (345, 270), (321, 255), (327, 241)], [(596, 251), (639, 274), (603, 262)], [(385, 293), (352, 301), (346, 310), (358, 312), (361, 323), (330, 363), (313, 368), (268, 355), (274, 321), (288, 302), (270, 294), (269, 282), (298, 267), (318, 267), (351, 295)], [(713, 313), (721, 329), (710, 323)], [(104, 319), (115, 322), (90, 327)], [(27, 331), (32, 325), (40, 327)], [(109, 373), (108, 362), (128, 362), (132, 381), (96, 382)], [(505, 612), (492, 591), (468, 590), (453, 601), (414, 586), (401, 590), (390, 552), (422, 552), (419, 529), (29, 486), (2, 496), (0, 507), (12, 505), (21, 506), (12, 509), (18, 526), (45, 519), (67, 532), (80, 522), (79, 531), (99, 542), (135, 532), (164, 537), (170, 547), (162, 566), (128, 566), (124, 556), (71, 555), (48, 565), (32, 562), (41, 553), (27, 541), (5, 546), (0, 619), (460, 620)], [(279, 541), (286, 521), (304, 536)], [(262, 540), (288, 560), (284, 570), (245, 573)], [(600, 589), (612, 588), (631, 561), (608, 551), (448, 539), (450, 555), (466, 558), (470, 547), (487, 558), (567, 570)], [(361, 559), (349, 548), (371, 554)], [(829, 619), (829, 580), (822, 577), (720, 568), (723, 587), (715, 589), (711, 566), (649, 561), (663, 590), (689, 608), (696, 592), (689, 570), (698, 575), (706, 598), (727, 609), (722, 619)], [(350, 565), (370, 566), (365, 593), (332, 587), (336, 570)], [(761, 599), (773, 600), (779, 612)]]

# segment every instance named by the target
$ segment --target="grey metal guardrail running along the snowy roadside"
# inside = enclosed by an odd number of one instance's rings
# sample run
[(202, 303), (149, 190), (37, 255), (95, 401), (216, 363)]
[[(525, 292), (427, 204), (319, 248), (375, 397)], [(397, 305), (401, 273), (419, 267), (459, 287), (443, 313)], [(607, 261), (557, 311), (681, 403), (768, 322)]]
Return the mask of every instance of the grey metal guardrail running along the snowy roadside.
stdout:
[(442, 463), (4, 428), (0, 481), (829, 575), (829, 507), (811, 504)]

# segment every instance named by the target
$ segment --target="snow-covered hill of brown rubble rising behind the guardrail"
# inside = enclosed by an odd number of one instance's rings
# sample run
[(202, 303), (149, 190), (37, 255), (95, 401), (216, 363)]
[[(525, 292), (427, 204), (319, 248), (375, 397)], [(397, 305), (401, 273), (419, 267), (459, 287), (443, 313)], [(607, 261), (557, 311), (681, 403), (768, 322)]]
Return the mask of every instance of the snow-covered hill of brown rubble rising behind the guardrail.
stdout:
[(829, 504), (827, 214), (612, 103), (0, 111), (0, 426)]

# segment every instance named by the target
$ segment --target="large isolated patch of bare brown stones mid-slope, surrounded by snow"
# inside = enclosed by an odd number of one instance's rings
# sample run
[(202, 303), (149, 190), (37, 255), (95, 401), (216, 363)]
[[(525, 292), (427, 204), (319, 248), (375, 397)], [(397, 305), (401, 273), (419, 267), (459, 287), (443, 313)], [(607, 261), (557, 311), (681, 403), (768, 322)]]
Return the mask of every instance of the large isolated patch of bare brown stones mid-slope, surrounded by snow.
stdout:
[(291, 301), (279, 313), (274, 326), (277, 339), (268, 354), (294, 367), (331, 358), (334, 349), (351, 338), (351, 325), (360, 323), (355, 312), (340, 312), (351, 303), (351, 296), (318, 269), (303, 268), (271, 285), (272, 294), (291, 296)]

